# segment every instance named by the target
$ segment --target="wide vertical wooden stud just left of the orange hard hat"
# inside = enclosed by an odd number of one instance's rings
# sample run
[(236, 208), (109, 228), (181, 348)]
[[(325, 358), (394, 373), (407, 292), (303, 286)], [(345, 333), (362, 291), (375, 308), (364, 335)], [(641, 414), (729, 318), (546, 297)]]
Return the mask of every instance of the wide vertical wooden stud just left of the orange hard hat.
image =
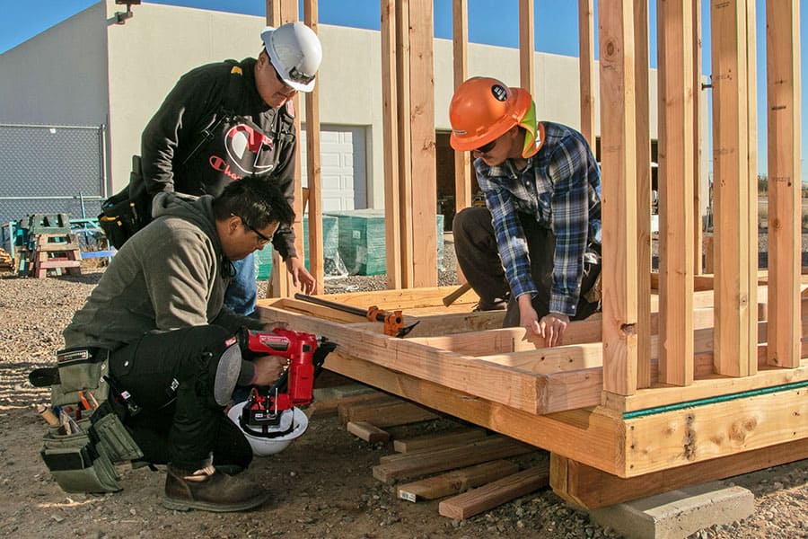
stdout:
[[(432, 0), (409, 0), (409, 167), (412, 286), (437, 286), (437, 187), (435, 177), (435, 47)], [(443, 234), (443, 231), (441, 232)]]

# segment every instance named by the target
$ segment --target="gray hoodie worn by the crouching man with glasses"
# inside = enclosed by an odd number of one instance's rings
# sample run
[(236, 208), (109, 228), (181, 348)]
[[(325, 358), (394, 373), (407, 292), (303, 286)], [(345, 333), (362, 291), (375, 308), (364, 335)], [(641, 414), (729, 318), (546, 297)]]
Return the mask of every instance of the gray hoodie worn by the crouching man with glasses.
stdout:
[(154, 197), (154, 222), (116, 253), (66, 327), (67, 347), (118, 349), (147, 332), (206, 324), (233, 332), (263, 326), (224, 307), (229, 278), (223, 267), (229, 269), (230, 261), (216, 234), (212, 200)]

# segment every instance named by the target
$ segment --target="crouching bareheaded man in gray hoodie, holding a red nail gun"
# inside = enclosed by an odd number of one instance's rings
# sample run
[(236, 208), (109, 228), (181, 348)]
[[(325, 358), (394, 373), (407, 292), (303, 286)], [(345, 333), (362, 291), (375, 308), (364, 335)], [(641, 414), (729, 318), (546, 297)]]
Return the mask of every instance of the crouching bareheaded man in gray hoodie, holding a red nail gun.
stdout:
[(224, 291), (231, 262), (261, 249), (294, 212), (254, 177), (215, 199), (160, 193), (153, 212), (66, 327), (66, 347), (108, 354), (110, 402), (126, 405), (123, 421), (142, 460), (168, 464), (163, 505), (257, 507), (268, 494), (235, 475), (252, 450), (224, 410), (236, 385), (273, 384), (288, 358), (242, 357), (240, 331), (275, 328), (228, 310)]

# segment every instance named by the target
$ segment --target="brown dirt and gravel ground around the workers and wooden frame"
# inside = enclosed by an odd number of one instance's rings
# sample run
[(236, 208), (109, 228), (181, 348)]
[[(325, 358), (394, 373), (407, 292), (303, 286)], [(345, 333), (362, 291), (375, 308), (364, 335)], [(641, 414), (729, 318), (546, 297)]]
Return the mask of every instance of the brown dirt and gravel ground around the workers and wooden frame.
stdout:
[[(450, 238), (451, 240), (451, 238)], [(454, 284), (452, 244), (444, 251), (441, 284)], [(804, 249), (805, 251), (805, 249)], [(40, 462), (44, 424), (33, 411), (47, 393), (27, 382), (31, 368), (52, 361), (61, 330), (101, 277), (12, 278), (0, 276), (0, 535), (13, 537), (312, 537), (435, 539), (525, 537), (619, 537), (568, 507), (551, 490), (540, 490), (465, 521), (437, 514), (437, 502), (395, 499), (390, 486), (373, 479), (371, 467), (391, 444), (365, 444), (334, 418), (312, 419), (306, 436), (277, 457), (259, 459), (252, 479), (270, 487), (267, 507), (246, 514), (184, 514), (162, 508), (162, 474), (122, 471), (124, 490), (101, 498), (66, 495)], [(380, 289), (384, 276), (329, 279), (328, 292)], [(438, 429), (425, 424), (421, 430)], [(540, 458), (540, 457), (539, 457)], [(274, 459), (274, 460), (273, 460)], [(750, 489), (754, 514), (695, 537), (808, 537), (808, 461), (735, 477)]]

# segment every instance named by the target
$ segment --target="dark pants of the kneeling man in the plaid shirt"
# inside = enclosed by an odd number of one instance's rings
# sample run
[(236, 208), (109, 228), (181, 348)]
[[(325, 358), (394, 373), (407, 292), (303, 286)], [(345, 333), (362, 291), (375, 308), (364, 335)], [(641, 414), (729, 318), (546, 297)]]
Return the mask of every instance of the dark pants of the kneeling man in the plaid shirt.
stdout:
[[(533, 308), (539, 318), (549, 314), (549, 298), (553, 286), (553, 257), (556, 237), (551, 230), (540, 226), (533, 216), (520, 214), (528, 252), (531, 258), (531, 276), (539, 293), (533, 297)], [(463, 275), (479, 296), (480, 309), (490, 308), (507, 293), (507, 280), (496, 247), (494, 226), (488, 208), (465, 208), (452, 223), (454, 249)], [(582, 320), (598, 310), (599, 302), (589, 303), (584, 293), (593, 287), (601, 266), (584, 263), (581, 295), (573, 320)], [(516, 298), (508, 301), (504, 327), (519, 325), (519, 306)]]

